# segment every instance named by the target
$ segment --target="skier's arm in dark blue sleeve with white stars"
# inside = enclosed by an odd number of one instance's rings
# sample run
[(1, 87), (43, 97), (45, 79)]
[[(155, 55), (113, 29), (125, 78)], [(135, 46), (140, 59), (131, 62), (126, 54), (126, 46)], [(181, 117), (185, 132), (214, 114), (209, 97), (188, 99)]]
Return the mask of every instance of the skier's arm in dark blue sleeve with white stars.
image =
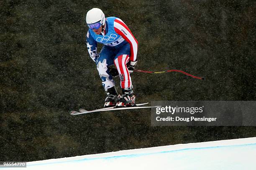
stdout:
[(87, 50), (89, 52), (90, 57), (96, 63), (96, 60), (98, 57), (97, 42), (93, 39), (92, 35), (90, 35), (89, 30), (86, 35), (86, 45), (87, 45)]

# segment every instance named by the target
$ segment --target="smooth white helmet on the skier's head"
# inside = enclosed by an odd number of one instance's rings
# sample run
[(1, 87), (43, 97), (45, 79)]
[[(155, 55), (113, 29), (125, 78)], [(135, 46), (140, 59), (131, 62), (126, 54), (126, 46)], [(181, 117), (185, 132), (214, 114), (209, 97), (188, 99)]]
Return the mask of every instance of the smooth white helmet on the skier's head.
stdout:
[(105, 15), (99, 8), (92, 8), (86, 14), (86, 23), (93, 24), (100, 21), (101, 25), (105, 25)]

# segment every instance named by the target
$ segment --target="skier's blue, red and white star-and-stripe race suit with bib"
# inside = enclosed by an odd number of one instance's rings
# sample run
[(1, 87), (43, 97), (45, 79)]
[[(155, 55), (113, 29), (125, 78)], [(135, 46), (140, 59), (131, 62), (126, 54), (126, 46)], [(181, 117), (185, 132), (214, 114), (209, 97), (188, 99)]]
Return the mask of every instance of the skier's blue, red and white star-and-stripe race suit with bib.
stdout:
[[(136, 61), (138, 41), (119, 18), (108, 17), (105, 25), (105, 30), (100, 35), (91, 29), (87, 32), (86, 44), (90, 57), (97, 65), (105, 89), (115, 85), (108, 69), (110, 65), (115, 65), (117, 68), (121, 87), (131, 87), (131, 76), (126, 64), (129, 60)], [(98, 42), (104, 44), (99, 54), (97, 53)]]

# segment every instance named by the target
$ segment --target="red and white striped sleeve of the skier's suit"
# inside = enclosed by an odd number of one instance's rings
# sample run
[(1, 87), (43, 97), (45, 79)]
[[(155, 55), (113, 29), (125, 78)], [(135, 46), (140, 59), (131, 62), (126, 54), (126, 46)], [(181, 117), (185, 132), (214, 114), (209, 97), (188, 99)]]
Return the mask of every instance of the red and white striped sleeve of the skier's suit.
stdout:
[(138, 41), (131, 33), (131, 30), (119, 18), (116, 18), (114, 21), (114, 29), (116, 33), (121, 35), (123, 39), (125, 39), (130, 44), (131, 46), (130, 60), (135, 61), (137, 57), (137, 51), (138, 51)]

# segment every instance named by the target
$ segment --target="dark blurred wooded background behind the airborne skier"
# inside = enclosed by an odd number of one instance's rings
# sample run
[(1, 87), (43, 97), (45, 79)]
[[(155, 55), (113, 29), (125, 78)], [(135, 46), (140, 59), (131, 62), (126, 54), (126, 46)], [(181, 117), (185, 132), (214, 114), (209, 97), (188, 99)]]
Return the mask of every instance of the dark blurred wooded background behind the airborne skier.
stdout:
[[(254, 0), (0, 1), (0, 160), (44, 160), (256, 136), (256, 127), (152, 127), (150, 110), (69, 115), (102, 107), (84, 44), (92, 7), (121, 18), (139, 43), (137, 103), (255, 100)], [(116, 79), (120, 92), (119, 80)]]

